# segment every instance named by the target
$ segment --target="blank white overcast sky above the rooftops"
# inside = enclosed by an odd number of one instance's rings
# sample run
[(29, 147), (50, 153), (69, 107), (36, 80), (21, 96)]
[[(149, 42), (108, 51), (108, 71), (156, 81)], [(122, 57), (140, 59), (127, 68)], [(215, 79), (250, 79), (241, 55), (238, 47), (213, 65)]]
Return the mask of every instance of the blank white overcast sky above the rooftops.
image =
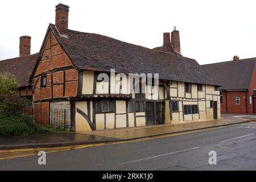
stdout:
[(110, 36), (148, 48), (162, 46), (176, 26), (181, 53), (199, 64), (256, 57), (256, 1), (2, 1), (0, 60), (19, 56), (19, 37), (39, 51), (55, 6), (69, 8), (69, 29)]

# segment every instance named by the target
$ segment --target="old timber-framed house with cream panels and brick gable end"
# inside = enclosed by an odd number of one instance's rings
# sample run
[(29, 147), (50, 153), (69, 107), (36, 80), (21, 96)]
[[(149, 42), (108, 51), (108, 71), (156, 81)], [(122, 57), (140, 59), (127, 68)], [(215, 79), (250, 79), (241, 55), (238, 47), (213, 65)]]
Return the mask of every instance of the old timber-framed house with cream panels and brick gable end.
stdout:
[[(65, 107), (74, 131), (220, 118), (218, 84), (196, 60), (180, 54), (179, 31), (171, 38), (164, 33), (163, 46), (149, 49), (69, 30), (68, 13), (68, 6), (56, 6), (56, 22), (49, 24), (32, 72), (35, 110)], [(110, 79), (102, 80), (102, 73)], [(130, 79), (129, 73), (159, 73), (159, 86), (140, 75)], [(139, 93), (133, 88), (137, 78)]]

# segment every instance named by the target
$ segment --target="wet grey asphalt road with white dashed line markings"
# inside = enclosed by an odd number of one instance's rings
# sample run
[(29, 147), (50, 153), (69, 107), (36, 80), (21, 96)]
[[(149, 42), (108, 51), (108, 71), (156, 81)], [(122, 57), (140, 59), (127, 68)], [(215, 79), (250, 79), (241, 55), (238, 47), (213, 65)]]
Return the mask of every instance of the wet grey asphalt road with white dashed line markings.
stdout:
[[(217, 164), (210, 165), (210, 151)], [(256, 123), (0, 160), (0, 170), (256, 170)]]

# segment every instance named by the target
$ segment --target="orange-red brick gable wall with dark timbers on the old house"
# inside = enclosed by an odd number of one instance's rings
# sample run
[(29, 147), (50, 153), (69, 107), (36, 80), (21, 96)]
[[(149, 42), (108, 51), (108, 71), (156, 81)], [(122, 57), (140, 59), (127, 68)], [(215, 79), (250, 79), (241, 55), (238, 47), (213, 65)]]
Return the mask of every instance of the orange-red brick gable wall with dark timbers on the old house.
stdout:
[[(48, 35), (43, 56), (34, 75), (34, 100), (46, 100), (77, 96), (78, 71), (61, 69), (73, 65), (51, 32)], [(59, 68), (61, 70), (56, 70)], [(46, 88), (40, 87), (40, 75), (47, 73)], [(37, 76), (39, 75), (39, 76)]]

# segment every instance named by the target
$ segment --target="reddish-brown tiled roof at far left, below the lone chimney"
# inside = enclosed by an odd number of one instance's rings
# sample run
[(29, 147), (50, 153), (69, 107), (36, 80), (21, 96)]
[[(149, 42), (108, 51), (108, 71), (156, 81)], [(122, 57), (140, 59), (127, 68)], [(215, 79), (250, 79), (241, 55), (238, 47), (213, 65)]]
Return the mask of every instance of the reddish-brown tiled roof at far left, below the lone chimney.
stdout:
[(33, 55), (15, 57), (0, 61), (0, 73), (10, 73), (15, 75), (18, 86), (29, 85), (30, 75), (35, 67), (39, 53)]

